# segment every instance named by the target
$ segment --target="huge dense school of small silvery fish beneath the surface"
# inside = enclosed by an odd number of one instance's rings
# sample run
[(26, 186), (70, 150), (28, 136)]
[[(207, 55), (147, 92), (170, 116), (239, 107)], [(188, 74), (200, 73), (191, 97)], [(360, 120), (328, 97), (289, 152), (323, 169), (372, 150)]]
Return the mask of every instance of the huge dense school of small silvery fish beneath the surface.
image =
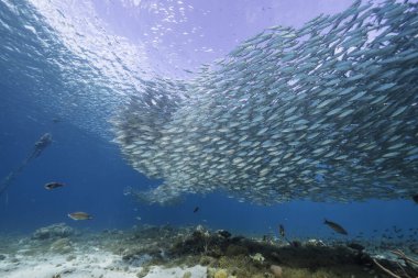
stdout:
[(129, 163), (167, 203), (410, 198), (418, 188), (418, 4), (354, 2), (275, 26), (193, 80), (155, 78), (112, 120)]

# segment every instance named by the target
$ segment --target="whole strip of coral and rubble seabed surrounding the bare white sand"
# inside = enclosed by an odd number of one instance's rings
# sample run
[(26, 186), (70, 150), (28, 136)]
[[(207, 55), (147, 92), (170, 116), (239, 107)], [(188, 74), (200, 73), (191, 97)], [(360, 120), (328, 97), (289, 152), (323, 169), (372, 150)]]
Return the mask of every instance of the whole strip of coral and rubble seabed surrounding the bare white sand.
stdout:
[[(57, 229), (58, 226), (58, 229)], [(43, 256), (53, 253), (64, 256), (64, 262), (79, 260), (82, 254), (106, 252), (117, 260), (111, 269), (135, 270), (136, 277), (147, 277), (154, 267), (176, 268), (179, 277), (188, 277), (189, 267), (200, 266), (209, 278), (297, 278), (297, 277), (416, 277), (415, 258), (396, 251), (399, 260), (372, 257), (360, 243), (300, 240), (294, 242), (263, 241), (235, 236), (227, 231), (198, 227), (136, 226), (131, 231), (103, 231), (66, 237), (73, 233), (64, 225), (53, 225), (36, 231), (43, 240), (14, 238), (2, 241), (1, 262), (13, 264), (24, 256)], [(42, 232), (40, 232), (42, 231)], [(50, 231), (50, 232), (45, 232)], [(55, 231), (55, 232), (51, 232)], [(58, 231), (58, 232), (56, 232)], [(61, 231), (61, 232), (59, 232)], [(23, 257), (22, 257), (23, 256)], [(2, 260), (1, 260), (2, 259)], [(13, 263), (16, 259), (18, 263)], [(110, 268), (109, 268), (110, 269)], [(395, 276), (391, 276), (391, 275)], [(156, 275), (156, 274), (152, 274)]]

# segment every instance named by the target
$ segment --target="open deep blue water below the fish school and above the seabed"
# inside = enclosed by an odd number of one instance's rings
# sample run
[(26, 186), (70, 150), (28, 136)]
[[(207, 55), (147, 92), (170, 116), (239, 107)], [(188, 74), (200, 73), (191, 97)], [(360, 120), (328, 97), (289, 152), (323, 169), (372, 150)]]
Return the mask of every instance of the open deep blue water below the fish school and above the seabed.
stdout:
[[(0, 75), (10, 73), (9, 67), (15, 63), (2, 59)], [(277, 235), (282, 223), (290, 238), (342, 238), (323, 225), (323, 219), (343, 225), (351, 238), (361, 233), (371, 235), (373, 230), (383, 233), (394, 225), (404, 230), (418, 229), (418, 205), (411, 200), (346, 204), (292, 201), (262, 207), (240, 203), (217, 192), (187, 196), (172, 207), (138, 203), (124, 196), (123, 189), (128, 186), (147, 189), (160, 181), (150, 180), (132, 169), (119, 147), (111, 143), (111, 137), (89, 131), (86, 129), (89, 124), (76, 124), (79, 122), (75, 120), (76, 112), (73, 115), (63, 113), (72, 105), (68, 98), (61, 98), (58, 102), (54, 99), (54, 104), (50, 105), (45, 103), (48, 94), (30, 92), (30, 79), (15, 78), (15, 87), (12, 82), (0, 84), (0, 180), (19, 167), (42, 134), (50, 132), (54, 142), (30, 162), (0, 197), (0, 233), (31, 233), (41, 226), (65, 222), (91, 231), (123, 230), (139, 224), (202, 224), (241, 234)], [(84, 109), (78, 107), (78, 110)], [(88, 121), (95, 121), (95, 116)], [(109, 134), (109, 131), (103, 133)], [(66, 186), (47, 191), (44, 185), (50, 181)], [(194, 213), (196, 207), (199, 211)], [(94, 220), (73, 221), (67, 214), (74, 211), (91, 213)]]

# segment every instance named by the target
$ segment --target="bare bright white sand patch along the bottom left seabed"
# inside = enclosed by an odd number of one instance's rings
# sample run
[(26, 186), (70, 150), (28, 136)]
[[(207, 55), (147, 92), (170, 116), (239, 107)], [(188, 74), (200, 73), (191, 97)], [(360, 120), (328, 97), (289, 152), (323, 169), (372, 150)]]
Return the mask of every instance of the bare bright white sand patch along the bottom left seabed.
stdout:
[[(73, 256), (73, 259), (69, 259)], [(87, 253), (74, 252), (70, 255), (42, 254), (36, 256), (16, 255), (0, 260), (1, 278), (138, 278), (142, 267), (133, 267), (121, 260), (120, 256), (103, 251)], [(152, 267), (145, 278), (178, 277), (186, 271), (191, 278), (205, 278), (206, 267), (162, 268)], [(56, 276), (58, 277), (58, 276)]]

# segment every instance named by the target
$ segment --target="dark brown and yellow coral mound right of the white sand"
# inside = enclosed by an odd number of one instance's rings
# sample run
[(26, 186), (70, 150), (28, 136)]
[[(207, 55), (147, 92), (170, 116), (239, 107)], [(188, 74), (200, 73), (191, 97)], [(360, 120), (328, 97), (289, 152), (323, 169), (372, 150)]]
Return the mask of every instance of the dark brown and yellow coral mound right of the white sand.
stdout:
[(167, 249), (170, 258), (199, 257), (199, 260), (188, 258), (183, 262), (224, 269), (229, 276), (373, 277), (377, 270), (367, 254), (344, 244), (327, 245), (319, 240), (309, 240), (277, 245), (243, 236), (224, 237), (201, 226), (183, 235)]

